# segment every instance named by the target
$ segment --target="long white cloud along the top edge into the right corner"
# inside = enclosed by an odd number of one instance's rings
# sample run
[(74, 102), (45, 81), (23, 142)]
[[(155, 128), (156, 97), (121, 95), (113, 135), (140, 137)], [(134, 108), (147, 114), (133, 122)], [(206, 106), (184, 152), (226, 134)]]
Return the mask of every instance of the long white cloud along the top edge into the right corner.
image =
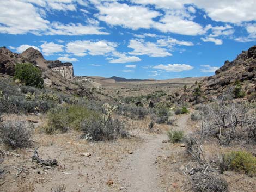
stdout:
[(214, 21), (241, 23), (256, 20), (255, 0), (132, 0), (139, 4), (153, 4), (157, 8), (182, 10), (185, 4), (193, 4), (203, 9)]

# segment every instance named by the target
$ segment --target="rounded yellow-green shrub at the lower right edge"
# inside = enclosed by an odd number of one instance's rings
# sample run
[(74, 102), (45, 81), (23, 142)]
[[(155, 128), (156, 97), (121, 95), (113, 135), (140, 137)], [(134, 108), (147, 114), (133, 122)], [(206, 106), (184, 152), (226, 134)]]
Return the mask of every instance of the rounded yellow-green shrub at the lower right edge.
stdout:
[(248, 175), (256, 174), (256, 157), (245, 151), (233, 151), (222, 156), (220, 171), (244, 171)]

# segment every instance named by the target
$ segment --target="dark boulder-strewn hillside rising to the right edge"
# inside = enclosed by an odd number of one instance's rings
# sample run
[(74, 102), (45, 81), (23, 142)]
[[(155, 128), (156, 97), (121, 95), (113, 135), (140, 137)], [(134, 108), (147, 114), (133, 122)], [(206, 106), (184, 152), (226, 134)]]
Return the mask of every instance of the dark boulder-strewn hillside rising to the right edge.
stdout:
[[(216, 70), (214, 76), (206, 77), (191, 88), (184, 90), (184, 93), (175, 99), (197, 104), (213, 100), (223, 94), (231, 97), (237, 82), (241, 84), (245, 98), (255, 100), (256, 46), (249, 48), (248, 51), (242, 51), (233, 61), (225, 61), (224, 65)], [(196, 96), (198, 87), (202, 92), (200, 96)]]

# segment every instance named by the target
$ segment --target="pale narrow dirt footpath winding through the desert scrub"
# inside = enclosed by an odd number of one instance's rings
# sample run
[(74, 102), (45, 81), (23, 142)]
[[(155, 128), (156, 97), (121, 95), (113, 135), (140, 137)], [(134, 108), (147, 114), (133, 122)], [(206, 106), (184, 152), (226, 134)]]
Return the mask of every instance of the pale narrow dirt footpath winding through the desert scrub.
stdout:
[[(178, 117), (175, 128), (185, 129), (188, 115)], [(162, 192), (160, 187), (161, 170), (157, 169), (156, 158), (164, 153), (163, 140), (167, 139), (165, 133), (149, 136), (141, 135), (146, 142), (139, 150), (133, 152), (129, 159), (123, 163), (118, 178), (123, 183), (124, 191)]]

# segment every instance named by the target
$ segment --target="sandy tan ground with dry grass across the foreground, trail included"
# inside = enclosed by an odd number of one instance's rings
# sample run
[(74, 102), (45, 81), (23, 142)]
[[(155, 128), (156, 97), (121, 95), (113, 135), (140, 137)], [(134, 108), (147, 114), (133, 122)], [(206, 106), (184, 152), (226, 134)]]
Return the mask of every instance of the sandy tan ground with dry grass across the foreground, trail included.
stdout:
[[(56, 159), (58, 166), (49, 168), (32, 162), (33, 148), (13, 151), (0, 146), (7, 151), (1, 165), (4, 173), (0, 175), (0, 191), (50, 192), (58, 191), (55, 189), (60, 185), (67, 192), (191, 191), (190, 177), (184, 172), (193, 160), (184, 144), (167, 142), (166, 131), (175, 128), (189, 133), (199, 126), (190, 120), (190, 115), (177, 117), (175, 125), (155, 125), (153, 130), (148, 129), (149, 119), (129, 120), (131, 138), (113, 142), (88, 142), (80, 139), (76, 131), (46, 135), (35, 128), (33, 140), (39, 156)], [(20, 118), (44, 122), (37, 116)], [(215, 147), (205, 146), (211, 148), (209, 156), (218, 150)], [(230, 191), (256, 191), (255, 177), (234, 172), (223, 177)]]

